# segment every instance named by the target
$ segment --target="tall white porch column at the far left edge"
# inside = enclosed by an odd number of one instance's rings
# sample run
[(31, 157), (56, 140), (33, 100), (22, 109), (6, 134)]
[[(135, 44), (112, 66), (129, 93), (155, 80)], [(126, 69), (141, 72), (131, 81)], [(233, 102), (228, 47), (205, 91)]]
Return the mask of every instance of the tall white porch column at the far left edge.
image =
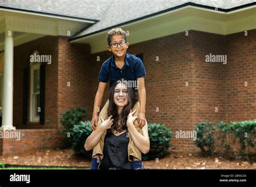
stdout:
[(14, 38), (11, 31), (5, 32), (3, 82), (3, 120), (0, 130), (16, 130), (12, 121), (14, 102)]

